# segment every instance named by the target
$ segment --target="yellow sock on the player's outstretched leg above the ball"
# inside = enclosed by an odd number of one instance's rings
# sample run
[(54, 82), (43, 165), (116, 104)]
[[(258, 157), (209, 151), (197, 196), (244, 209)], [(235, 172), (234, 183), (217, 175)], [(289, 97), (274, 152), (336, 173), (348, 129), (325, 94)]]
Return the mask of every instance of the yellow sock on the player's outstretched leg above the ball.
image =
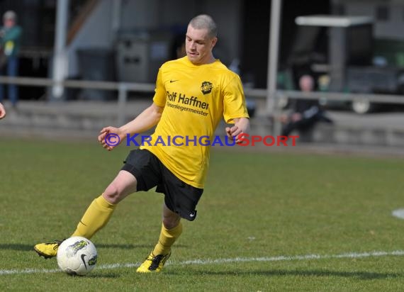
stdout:
[(82, 220), (80, 220), (72, 236), (82, 236), (90, 239), (98, 230), (108, 223), (115, 208), (116, 204), (108, 203), (102, 195), (94, 199), (84, 213)]

